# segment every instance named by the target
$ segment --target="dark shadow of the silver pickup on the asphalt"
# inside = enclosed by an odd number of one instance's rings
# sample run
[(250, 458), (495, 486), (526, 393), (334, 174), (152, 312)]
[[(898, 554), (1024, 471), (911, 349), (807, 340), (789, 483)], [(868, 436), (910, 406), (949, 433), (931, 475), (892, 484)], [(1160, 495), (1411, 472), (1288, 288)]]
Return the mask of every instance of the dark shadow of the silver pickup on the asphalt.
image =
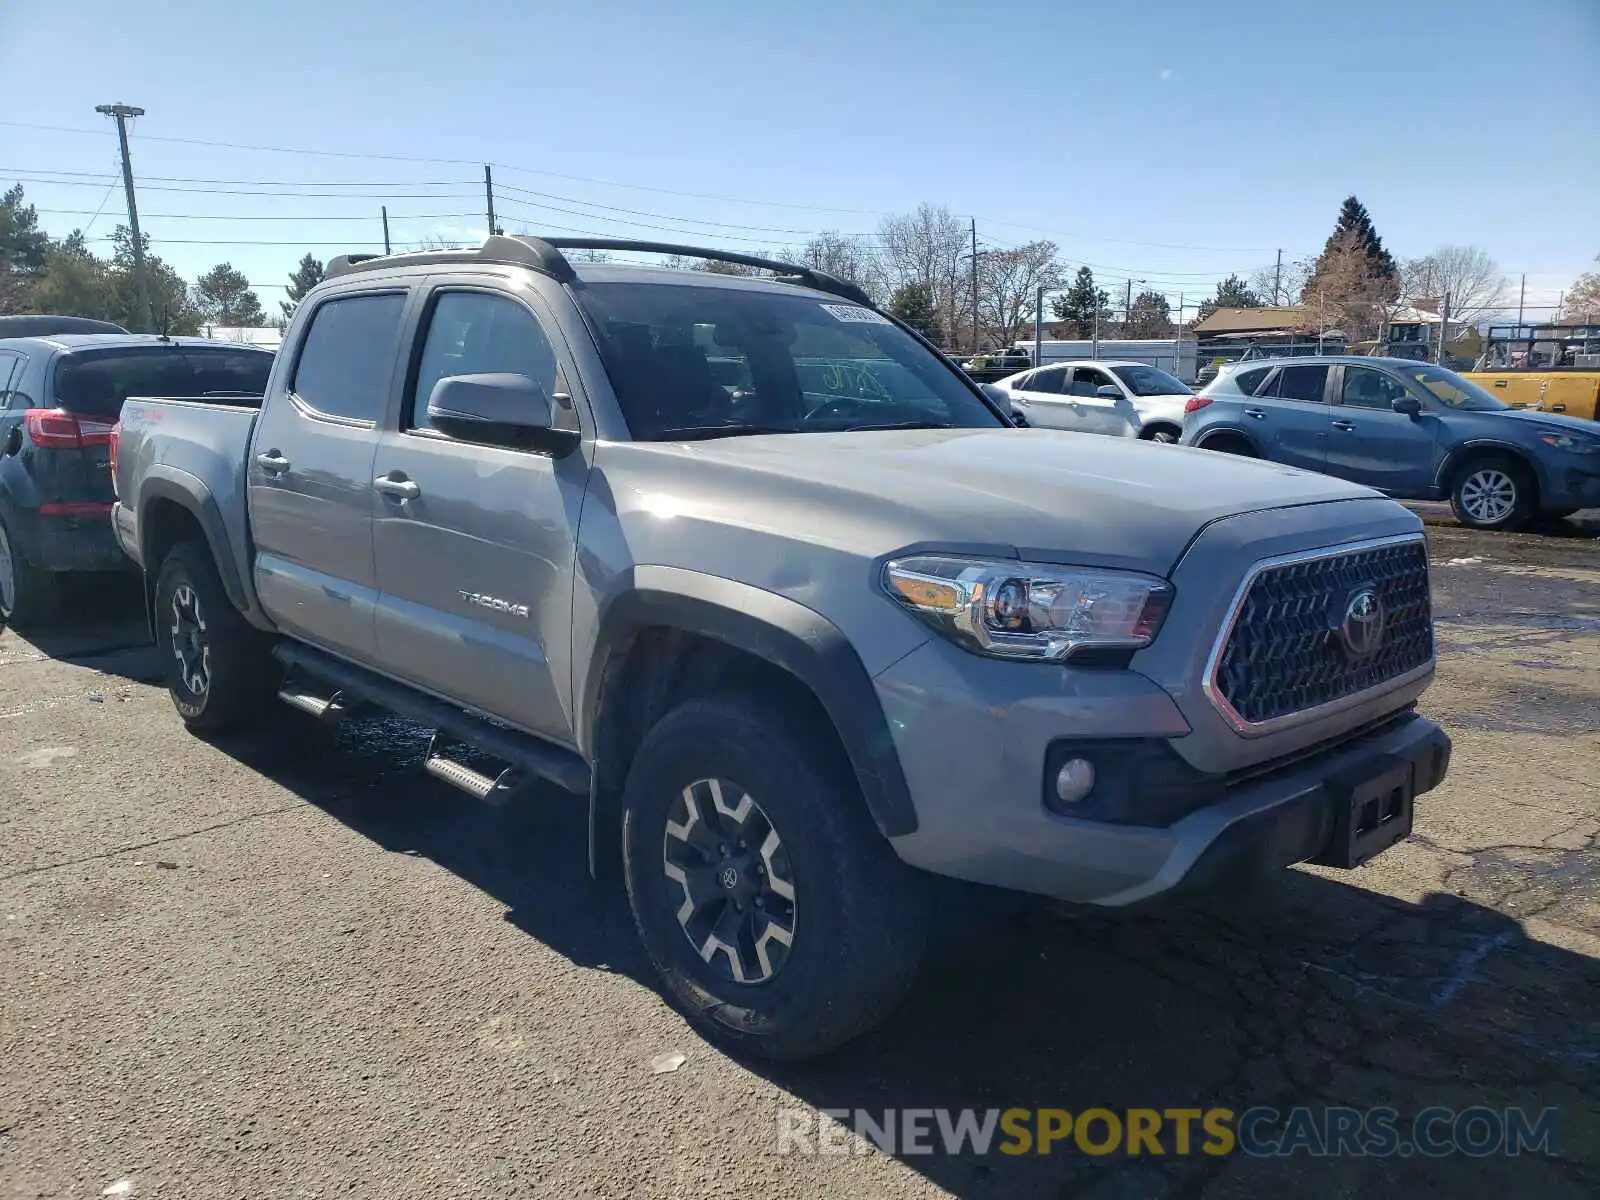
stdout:
[[(654, 987), (619, 888), (589, 878), (581, 800), (477, 805), (421, 776), (426, 734), (387, 717), (274, 725), (218, 746), (379, 846), (483, 890), (573, 963)], [(1563, 886), (1592, 894), (1597, 867), (1579, 858)], [(1198, 1134), (1197, 1152), (1173, 1154), (1168, 1138), (1163, 1157), (1096, 1157), (1070, 1141), (1050, 1155), (946, 1154), (938, 1133), (933, 1154), (893, 1147), (963, 1197), (1594, 1195), (1600, 965), (1462, 896), (1413, 904), (1360, 878), (1294, 870), (1144, 914), (1000, 906), (931, 962), (885, 1029), (816, 1062), (742, 1066), (797, 1110), (875, 1123), (906, 1109), (1389, 1106), (1408, 1131), (1429, 1106), (1560, 1110), (1554, 1158), (1208, 1157)], [(779, 1117), (766, 1126), (774, 1155)]]

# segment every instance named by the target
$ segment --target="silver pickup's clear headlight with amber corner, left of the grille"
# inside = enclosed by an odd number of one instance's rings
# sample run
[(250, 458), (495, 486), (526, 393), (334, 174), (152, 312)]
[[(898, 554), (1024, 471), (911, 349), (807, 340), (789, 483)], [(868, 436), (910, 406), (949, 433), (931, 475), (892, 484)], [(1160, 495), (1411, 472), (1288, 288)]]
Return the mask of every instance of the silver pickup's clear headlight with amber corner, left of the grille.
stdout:
[(946, 555), (886, 563), (883, 587), (968, 650), (1043, 661), (1141, 650), (1173, 600), (1165, 579), (1134, 571)]

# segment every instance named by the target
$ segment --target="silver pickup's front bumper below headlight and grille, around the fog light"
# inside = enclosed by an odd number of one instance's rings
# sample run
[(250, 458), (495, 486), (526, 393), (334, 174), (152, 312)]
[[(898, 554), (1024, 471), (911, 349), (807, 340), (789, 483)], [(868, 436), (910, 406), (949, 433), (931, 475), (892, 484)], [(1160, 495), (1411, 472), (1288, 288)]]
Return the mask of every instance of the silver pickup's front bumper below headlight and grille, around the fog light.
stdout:
[[(966, 662), (947, 654), (962, 654)], [(994, 669), (994, 670), (992, 670)], [(989, 678), (962, 704), (947, 670)], [(1022, 672), (1018, 675), (1016, 672)], [(1053, 691), (1038, 694), (1046, 678)], [(995, 685), (1032, 685), (1005, 696)], [(902, 659), (877, 678), (917, 805), (917, 830), (891, 840), (909, 864), (941, 875), (1058, 899), (1126, 906), (1230, 874), (1293, 862), (1354, 866), (1410, 832), (1410, 800), (1443, 779), (1450, 738), (1410, 712), (1290, 755), (1261, 773), (1195, 773), (1195, 802), (1168, 824), (1062, 816), (1043, 797), (1048, 747), (1062, 731), (1083, 739), (1168, 739), (1189, 726), (1171, 698), (1131, 670), (1061, 670), (978, 661), (942, 646)], [(966, 691), (973, 698), (973, 691)], [(1403, 781), (1405, 808), (1352, 837), (1352, 797)], [(1163, 797), (1171, 805), (1173, 797)], [(1360, 824), (1357, 814), (1354, 824)], [(1357, 845), (1358, 843), (1358, 845)], [(1354, 850), (1354, 853), (1352, 853)]]

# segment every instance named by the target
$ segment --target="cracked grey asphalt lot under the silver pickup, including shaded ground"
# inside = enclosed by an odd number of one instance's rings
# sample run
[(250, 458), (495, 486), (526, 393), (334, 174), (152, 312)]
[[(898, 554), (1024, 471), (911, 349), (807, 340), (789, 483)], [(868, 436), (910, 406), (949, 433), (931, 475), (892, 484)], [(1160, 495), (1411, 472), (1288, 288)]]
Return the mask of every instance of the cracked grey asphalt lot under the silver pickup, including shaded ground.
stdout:
[[(387, 720), (197, 741), (130, 597), (85, 590), (62, 632), (0, 635), (0, 1195), (1594, 1197), (1600, 514), (1493, 536), (1421, 507), (1456, 758), (1410, 842), (997, 918), (803, 1069), (662, 1003), (581, 805), (480, 808)], [(1253, 1104), (1555, 1106), (1560, 1157), (774, 1152), (798, 1106)]]

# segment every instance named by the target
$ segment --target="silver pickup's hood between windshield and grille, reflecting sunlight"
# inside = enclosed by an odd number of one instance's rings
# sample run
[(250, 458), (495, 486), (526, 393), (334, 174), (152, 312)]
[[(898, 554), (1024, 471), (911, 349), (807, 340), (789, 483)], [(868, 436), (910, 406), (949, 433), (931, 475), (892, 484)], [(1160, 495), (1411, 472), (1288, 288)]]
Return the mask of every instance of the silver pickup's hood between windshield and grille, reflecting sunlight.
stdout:
[(658, 502), (667, 493), (685, 515), (874, 557), (941, 546), (1165, 574), (1221, 517), (1376, 494), (1274, 462), (1048, 429), (781, 434), (629, 448), (645, 451), (630, 456), (643, 469), (626, 472), (630, 483), (650, 486)]

